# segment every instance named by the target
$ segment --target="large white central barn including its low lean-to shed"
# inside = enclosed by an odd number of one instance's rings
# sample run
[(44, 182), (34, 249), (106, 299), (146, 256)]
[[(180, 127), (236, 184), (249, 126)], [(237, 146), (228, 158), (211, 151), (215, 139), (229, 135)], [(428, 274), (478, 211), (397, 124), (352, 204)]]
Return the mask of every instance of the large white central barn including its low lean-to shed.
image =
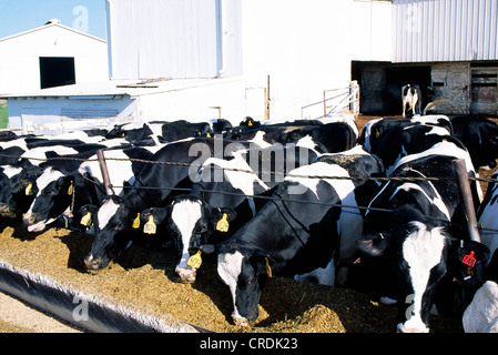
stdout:
[(390, 1), (106, 0), (106, 10), (110, 81), (8, 95), (10, 128), (318, 118), (324, 90), (349, 85), (353, 60), (392, 58)]

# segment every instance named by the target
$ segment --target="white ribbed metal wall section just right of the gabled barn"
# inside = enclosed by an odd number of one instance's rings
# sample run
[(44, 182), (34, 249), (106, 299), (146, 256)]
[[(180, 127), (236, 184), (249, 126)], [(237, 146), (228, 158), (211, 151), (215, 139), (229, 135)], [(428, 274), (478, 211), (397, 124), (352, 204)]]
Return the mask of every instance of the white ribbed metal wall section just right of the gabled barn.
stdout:
[(223, 23), (240, 16), (237, 7), (222, 13), (223, 2), (108, 0), (112, 78), (217, 77), (230, 50)]

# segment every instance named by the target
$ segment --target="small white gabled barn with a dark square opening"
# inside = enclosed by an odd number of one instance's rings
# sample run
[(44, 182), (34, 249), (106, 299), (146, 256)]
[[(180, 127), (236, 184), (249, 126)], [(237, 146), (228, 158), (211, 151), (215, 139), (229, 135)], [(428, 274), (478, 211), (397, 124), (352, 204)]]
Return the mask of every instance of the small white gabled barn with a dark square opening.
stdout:
[(0, 39), (0, 94), (109, 78), (106, 42), (50, 20)]

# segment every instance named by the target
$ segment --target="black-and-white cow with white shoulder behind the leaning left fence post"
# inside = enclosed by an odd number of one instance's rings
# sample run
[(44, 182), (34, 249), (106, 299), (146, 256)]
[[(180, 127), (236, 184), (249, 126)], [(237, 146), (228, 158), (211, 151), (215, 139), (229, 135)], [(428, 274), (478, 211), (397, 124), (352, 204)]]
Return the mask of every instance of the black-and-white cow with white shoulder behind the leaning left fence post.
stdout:
[[(54, 160), (43, 163), (47, 166), (37, 179), (37, 195), (23, 222), (29, 232), (43, 231), (48, 224), (64, 217), (65, 223), (72, 222), (74, 213), (85, 204), (100, 205), (106, 192), (96, 156), (85, 154), (74, 155), (74, 161)], [(142, 162), (128, 161), (128, 159), (146, 160), (152, 153), (143, 148), (129, 148), (124, 150), (105, 151), (108, 158), (122, 161), (108, 161), (111, 182), (119, 185), (130, 185), (132, 179), (143, 168)], [(92, 161), (90, 161), (92, 160)], [(124, 161), (123, 161), (124, 160)], [(118, 186), (121, 192), (121, 186)]]

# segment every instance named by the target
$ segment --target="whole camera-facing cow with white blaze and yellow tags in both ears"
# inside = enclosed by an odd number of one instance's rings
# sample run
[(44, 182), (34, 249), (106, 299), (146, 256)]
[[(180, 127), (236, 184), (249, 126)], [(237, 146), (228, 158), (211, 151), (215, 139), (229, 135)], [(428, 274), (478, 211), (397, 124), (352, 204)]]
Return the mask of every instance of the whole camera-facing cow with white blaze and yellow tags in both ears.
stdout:
[(230, 156), (210, 158), (203, 163), (190, 195), (179, 195), (164, 209), (141, 213), (145, 225), (151, 223), (148, 221), (156, 225), (166, 220), (177, 247), (180, 263), (175, 271), (182, 282), (195, 281), (196, 268), (189, 265), (190, 250), (230, 237), (267, 202), (257, 196), (270, 195), (285, 172), (316, 158), (314, 151), (295, 145), (248, 150), (237, 150), (236, 145)]

